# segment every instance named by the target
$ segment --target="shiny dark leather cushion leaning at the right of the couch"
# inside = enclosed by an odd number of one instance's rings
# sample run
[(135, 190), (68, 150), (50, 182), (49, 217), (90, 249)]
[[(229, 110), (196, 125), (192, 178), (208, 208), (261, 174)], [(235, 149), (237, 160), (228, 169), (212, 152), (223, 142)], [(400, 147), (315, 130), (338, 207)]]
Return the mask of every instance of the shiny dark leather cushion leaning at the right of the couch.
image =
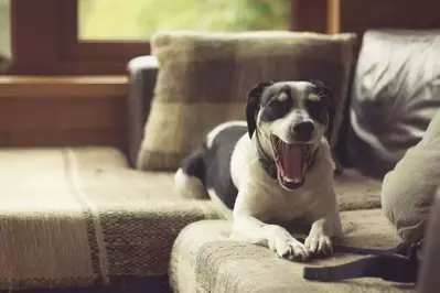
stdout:
[(383, 178), (417, 144), (440, 107), (440, 30), (368, 31), (355, 70), (347, 149)]

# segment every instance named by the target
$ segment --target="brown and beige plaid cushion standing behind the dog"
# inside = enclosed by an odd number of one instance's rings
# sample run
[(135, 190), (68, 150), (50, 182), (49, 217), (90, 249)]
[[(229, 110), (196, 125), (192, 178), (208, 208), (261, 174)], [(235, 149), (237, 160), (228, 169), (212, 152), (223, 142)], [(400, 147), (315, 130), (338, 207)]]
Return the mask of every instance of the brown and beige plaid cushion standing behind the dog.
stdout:
[[(175, 170), (204, 135), (245, 119), (247, 93), (262, 80), (320, 79), (333, 91), (334, 145), (346, 97), (354, 34), (160, 32), (159, 75), (137, 165)], [(251, 48), (251, 50), (249, 50)]]

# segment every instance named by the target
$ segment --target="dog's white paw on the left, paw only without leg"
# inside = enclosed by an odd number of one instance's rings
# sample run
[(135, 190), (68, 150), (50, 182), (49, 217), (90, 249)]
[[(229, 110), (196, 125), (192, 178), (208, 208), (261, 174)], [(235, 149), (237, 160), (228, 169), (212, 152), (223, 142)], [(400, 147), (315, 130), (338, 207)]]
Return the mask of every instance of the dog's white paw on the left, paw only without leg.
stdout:
[(305, 261), (309, 258), (309, 251), (305, 246), (293, 237), (271, 239), (269, 248), (281, 259)]

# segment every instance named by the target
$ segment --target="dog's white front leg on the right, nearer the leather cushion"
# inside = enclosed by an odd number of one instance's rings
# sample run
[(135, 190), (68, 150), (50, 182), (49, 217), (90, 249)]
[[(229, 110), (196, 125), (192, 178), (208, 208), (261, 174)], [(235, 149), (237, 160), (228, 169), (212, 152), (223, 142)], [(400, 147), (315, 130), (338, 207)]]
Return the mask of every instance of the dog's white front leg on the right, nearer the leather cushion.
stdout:
[(311, 254), (329, 256), (333, 252), (332, 238), (342, 234), (337, 210), (313, 221), (304, 246)]

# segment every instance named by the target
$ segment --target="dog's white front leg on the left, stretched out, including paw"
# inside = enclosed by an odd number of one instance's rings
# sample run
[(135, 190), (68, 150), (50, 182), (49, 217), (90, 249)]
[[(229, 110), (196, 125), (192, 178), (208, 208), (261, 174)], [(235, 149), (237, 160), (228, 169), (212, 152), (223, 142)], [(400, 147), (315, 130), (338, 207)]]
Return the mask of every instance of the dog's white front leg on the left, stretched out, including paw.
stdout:
[(251, 243), (264, 245), (280, 258), (304, 261), (308, 249), (294, 239), (285, 228), (267, 225), (249, 214), (235, 214), (232, 238)]

